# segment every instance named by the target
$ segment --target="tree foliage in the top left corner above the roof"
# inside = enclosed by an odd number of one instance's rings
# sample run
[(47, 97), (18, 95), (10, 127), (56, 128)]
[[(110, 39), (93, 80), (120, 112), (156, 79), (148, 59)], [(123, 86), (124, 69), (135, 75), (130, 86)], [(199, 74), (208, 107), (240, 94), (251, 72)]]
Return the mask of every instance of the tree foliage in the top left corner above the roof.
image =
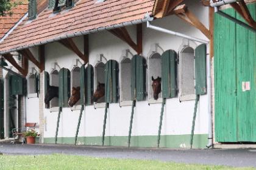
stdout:
[(0, 0), (0, 16), (12, 15), (12, 8), (22, 4), (21, 1)]

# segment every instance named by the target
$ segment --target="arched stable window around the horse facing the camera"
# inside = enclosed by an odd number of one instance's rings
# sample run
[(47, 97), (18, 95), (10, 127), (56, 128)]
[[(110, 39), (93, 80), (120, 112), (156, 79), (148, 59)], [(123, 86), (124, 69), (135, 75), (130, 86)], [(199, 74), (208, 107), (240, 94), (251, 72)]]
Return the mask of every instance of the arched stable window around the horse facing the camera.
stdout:
[(162, 91), (158, 94), (158, 99), (154, 99), (154, 90), (152, 88), (152, 77), (162, 77), (161, 55), (159, 53), (152, 53), (148, 58), (148, 103), (162, 103)]

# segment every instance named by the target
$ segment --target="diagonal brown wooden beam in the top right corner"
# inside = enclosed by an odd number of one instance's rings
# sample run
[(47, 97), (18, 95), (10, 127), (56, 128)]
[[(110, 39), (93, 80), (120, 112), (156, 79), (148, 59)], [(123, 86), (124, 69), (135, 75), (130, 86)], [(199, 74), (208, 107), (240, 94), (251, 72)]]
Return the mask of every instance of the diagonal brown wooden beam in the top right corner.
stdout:
[(233, 2), (230, 5), (233, 7), (233, 9), (236, 10), (236, 12), (238, 12), (244, 18), (244, 20), (249, 25), (251, 25), (254, 29), (256, 29), (256, 22), (252, 18), (252, 16), (251, 16), (249, 10), (247, 9), (247, 6), (246, 6), (244, 1), (238, 1), (238, 3)]

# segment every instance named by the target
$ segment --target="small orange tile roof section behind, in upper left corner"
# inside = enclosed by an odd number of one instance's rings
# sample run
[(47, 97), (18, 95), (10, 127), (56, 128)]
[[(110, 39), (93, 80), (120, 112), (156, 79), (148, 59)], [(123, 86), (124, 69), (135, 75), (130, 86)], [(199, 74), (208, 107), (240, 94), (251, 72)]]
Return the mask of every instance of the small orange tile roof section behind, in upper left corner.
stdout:
[(0, 16), (0, 39), (27, 13), (27, 1), (14, 7), (11, 12), (12, 16)]

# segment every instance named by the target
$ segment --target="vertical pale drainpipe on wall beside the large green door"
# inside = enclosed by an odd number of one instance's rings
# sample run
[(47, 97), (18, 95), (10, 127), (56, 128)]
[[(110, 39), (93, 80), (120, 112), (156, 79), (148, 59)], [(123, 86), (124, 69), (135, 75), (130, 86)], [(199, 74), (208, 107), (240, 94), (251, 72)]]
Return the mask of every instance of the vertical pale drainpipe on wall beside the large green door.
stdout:
[(211, 77), (211, 57), (207, 56), (207, 94), (208, 94), (208, 144), (207, 148), (213, 146), (213, 123), (212, 123), (212, 77)]

